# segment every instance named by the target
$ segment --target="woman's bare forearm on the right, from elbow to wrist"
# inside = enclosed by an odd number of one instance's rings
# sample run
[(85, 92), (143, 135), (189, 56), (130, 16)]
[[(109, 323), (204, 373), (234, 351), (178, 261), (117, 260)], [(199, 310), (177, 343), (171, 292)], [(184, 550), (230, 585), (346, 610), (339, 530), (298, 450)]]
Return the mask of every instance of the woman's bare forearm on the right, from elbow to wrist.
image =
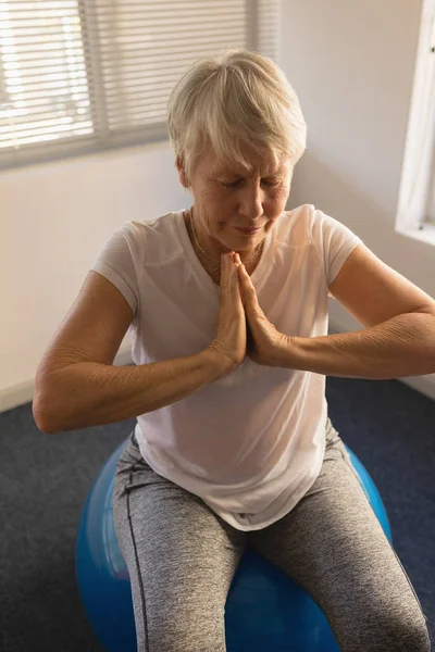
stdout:
[(356, 333), (288, 342), (277, 366), (376, 380), (435, 372), (435, 317), (428, 314), (397, 315)]

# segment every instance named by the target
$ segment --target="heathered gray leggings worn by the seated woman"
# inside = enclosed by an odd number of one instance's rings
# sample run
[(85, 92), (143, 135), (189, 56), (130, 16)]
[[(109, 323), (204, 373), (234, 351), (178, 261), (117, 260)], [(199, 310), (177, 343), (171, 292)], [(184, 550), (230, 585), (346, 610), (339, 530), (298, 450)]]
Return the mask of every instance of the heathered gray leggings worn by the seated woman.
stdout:
[(341, 652), (431, 650), (420, 601), (330, 419), (318, 479), (263, 529), (237, 530), (158, 475), (134, 432), (117, 464), (113, 507), (138, 652), (225, 652), (225, 602), (247, 541), (313, 598)]

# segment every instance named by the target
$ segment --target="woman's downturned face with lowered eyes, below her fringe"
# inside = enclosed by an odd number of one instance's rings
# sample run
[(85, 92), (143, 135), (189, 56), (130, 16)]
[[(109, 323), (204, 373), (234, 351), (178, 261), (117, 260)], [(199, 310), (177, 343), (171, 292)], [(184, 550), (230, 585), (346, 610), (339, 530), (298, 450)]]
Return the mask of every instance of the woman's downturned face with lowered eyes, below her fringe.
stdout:
[[(248, 172), (237, 164), (219, 164), (211, 155), (197, 164), (191, 179), (195, 228), (201, 241), (215, 253), (254, 249), (285, 210), (294, 166), (251, 155)], [(179, 166), (181, 181), (188, 187)], [(243, 233), (237, 229), (252, 229)]]

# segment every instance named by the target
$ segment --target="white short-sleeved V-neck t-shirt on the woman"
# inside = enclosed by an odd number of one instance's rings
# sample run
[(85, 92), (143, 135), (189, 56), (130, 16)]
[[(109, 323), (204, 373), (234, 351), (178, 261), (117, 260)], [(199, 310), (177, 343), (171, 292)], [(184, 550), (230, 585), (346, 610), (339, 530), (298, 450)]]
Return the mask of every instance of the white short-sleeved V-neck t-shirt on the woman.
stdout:
[[(327, 335), (327, 288), (360, 242), (312, 204), (283, 212), (251, 276), (277, 330)], [(220, 287), (195, 253), (183, 211), (126, 222), (91, 269), (134, 311), (135, 364), (199, 353), (215, 337)], [(135, 434), (158, 474), (199, 496), (235, 528), (254, 530), (287, 514), (315, 481), (326, 421), (324, 375), (247, 358), (194, 394), (137, 416)]]

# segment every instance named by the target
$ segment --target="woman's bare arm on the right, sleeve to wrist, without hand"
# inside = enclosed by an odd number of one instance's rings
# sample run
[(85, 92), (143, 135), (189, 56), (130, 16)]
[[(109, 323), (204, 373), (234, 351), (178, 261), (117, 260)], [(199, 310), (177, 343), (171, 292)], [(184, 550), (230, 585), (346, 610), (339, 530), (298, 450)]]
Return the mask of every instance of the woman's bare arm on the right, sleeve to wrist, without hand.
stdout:
[(435, 373), (435, 301), (359, 244), (330, 293), (363, 330), (286, 336), (274, 366), (325, 376), (390, 379)]

